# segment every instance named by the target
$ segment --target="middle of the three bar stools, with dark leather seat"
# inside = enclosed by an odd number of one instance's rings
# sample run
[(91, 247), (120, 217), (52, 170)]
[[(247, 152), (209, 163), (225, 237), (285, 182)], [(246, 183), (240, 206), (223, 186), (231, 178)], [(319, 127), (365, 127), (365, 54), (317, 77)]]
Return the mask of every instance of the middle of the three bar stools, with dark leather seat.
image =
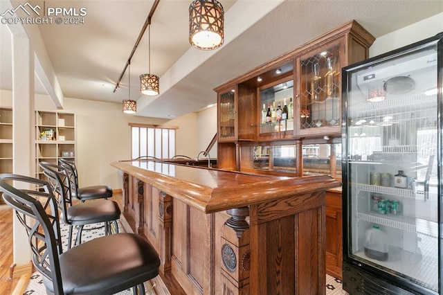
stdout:
[[(39, 166), (47, 177), (52, 188), (52, 193), (57, 197), (58, 207), (62, 212), (65, 224), (69, 225), (68, 249), (71, 249), (73, 227), (76, 226), (77, 238), (74, 245), (81, 244), (83, 227), (87, 224), (105, 223), (105, 235), (118, 233), (117, 220), (120, 218), (120, 208), (114, 201), (97, 199), (94, 202), (73, 204), (71, 194), (71, 181), (66, 168), (53, 163), (40, 162)], [(98, 229), (98, 227), (94, 228)]]

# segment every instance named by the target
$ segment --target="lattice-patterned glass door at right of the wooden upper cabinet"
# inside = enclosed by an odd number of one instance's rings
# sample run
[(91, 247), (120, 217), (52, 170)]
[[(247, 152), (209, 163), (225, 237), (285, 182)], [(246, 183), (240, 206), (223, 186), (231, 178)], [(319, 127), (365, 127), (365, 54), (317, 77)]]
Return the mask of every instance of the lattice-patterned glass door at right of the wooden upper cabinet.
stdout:
[(340, 128), (339, 48), (337, 44), (300, 61), (300, 109), (294, 115), (300, 120), (300, 134)]

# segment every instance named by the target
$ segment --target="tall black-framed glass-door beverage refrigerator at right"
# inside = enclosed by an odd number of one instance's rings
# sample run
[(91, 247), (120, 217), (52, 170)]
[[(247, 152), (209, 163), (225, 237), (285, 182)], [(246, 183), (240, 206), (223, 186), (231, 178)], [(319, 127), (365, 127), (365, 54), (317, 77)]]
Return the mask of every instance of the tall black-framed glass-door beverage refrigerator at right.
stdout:
[(443, 33), (342, 69), (343, 289), (442, 294)]

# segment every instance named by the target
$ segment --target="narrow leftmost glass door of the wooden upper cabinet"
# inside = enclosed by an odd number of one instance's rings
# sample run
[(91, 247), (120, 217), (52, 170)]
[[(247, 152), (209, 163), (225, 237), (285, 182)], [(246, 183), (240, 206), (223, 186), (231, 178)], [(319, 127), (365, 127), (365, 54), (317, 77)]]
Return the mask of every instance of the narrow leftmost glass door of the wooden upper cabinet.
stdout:
[(219, 93), (219, 141), (235, 140), (235, 89)]

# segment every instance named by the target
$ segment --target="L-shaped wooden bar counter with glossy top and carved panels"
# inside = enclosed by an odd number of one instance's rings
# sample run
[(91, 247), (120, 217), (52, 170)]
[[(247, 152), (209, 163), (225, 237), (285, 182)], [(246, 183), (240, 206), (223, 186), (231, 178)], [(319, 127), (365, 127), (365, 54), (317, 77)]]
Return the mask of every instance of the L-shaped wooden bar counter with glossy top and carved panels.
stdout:
[(325, 294), (327, 175), (273, 177), (161, 161), (111, 163), (125, 214), (186, 294)]

